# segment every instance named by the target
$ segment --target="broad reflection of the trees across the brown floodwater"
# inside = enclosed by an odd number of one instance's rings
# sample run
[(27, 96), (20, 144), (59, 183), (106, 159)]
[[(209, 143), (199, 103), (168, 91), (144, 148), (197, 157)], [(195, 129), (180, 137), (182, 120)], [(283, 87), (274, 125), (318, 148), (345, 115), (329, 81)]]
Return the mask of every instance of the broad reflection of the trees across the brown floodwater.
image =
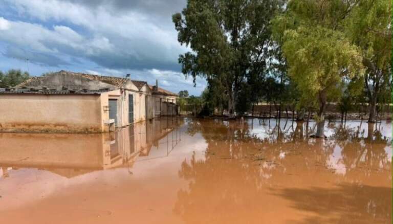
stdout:
[(174, 211), (186, 223), (390, 222), (390, 136), (350, 122), (330, 124), (328, 140), (308, 139), (300, 122), (267, 122), (190, 122), (188, 132), (208, 147), (204, 160), (192, 156), (179, 171), (189, 188)]

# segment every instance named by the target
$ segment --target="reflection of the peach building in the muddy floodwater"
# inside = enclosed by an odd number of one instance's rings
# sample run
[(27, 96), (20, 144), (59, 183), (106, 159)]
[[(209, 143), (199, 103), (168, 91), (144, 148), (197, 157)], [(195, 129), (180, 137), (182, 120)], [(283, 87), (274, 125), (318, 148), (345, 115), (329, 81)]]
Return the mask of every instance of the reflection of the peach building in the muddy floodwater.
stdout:
[[(180, 141), (181, 123), (177, 118), (161, 118), (99, 134), (0, 133), (0, 172), (6, 177), (10, 168), (38, 168), (73, 177), (130, 168), (151, 148), (164, 150), (163, 154), (171, 151)], [(173, 143), (167, 144), (165, 137)]]

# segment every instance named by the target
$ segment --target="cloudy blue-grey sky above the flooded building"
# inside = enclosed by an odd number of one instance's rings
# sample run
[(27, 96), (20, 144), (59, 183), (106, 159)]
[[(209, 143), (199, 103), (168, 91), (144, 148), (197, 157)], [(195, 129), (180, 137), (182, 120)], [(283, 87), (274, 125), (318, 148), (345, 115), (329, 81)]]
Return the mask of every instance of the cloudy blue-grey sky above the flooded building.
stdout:
[(200, 95), (178, 63), (171, 15), (186, 0), (0, 0), (0, 70), (68, 70), (145, 80)]

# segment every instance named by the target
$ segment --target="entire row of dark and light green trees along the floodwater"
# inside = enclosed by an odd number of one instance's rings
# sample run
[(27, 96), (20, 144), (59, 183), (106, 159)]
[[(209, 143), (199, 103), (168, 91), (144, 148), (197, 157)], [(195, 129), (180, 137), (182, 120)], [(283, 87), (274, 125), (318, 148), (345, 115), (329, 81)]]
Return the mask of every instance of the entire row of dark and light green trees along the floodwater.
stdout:
[(314, 114), (323, 137), (328, 104), (342, 118), (368, 107), (369, 122), (389, 105), (390, 16), (389, 0), (188, 0), (172, 20), (192, 50), (179, 57), (183, 73), (208, 83), (201, 110)]

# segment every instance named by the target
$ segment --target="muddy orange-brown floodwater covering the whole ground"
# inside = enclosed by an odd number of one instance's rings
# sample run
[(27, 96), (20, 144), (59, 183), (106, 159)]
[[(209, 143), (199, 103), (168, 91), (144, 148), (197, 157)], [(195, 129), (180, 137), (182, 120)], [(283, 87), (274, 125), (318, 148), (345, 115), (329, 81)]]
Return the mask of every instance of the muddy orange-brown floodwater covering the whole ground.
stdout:
[(0, 133), (0, 223), (391, 223), (391, 123)]

